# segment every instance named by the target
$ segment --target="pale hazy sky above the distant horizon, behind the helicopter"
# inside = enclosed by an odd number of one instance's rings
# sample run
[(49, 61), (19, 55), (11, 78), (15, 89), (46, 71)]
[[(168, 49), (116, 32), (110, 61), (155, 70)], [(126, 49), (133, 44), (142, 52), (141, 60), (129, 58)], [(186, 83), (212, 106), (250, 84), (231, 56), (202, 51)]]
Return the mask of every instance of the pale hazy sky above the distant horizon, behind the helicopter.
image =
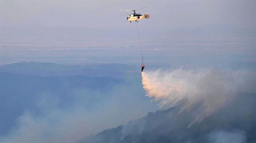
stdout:
[(151, 18), (141, 20), (147, 28), (195, 28), (231, 25), (255, 28), (255, 0), (177, 1), (87, 1), (87, 0), (1, 0), (0, 26), (70, 26), (123, 28), (129, 12), (138, 9)]

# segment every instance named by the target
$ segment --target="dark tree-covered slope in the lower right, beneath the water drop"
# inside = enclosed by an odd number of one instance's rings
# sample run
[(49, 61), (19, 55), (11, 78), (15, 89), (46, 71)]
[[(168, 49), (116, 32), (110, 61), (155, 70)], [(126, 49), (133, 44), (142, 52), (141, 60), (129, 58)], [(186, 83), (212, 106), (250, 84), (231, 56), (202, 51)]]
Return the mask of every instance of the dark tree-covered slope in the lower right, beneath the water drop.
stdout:
[(218, 130), (242, 130), (246, 141), (253, 143), (256, 141), (256, 94), (243, 93), (238, 97), (190, 128), (187, 127), (193, 120), (192, 113), (179, 114), (178, 107), (173, 107), (149, 112), (146, 117), (85, 137), (78, 143), (209, 143), (209, 134)]

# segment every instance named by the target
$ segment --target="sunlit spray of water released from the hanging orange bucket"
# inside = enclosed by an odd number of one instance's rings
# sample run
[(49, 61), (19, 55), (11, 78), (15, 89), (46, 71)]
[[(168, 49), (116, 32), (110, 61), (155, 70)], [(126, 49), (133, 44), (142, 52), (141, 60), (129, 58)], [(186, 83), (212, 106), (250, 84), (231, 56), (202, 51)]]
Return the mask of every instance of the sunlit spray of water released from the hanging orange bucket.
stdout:
[(224, 72), (212, 69), (196, 72), (177, 69), (141, 74), (146, 96), (159, 101), (159, 107), (179, 106), (179, 112), (187, 110), (193, 113), (194, 120), (188, 127), (220, 110), (232, 101), (238, 92), (255, 90), (255, 83), (248, 84), (248, 73), (243, 71)]

